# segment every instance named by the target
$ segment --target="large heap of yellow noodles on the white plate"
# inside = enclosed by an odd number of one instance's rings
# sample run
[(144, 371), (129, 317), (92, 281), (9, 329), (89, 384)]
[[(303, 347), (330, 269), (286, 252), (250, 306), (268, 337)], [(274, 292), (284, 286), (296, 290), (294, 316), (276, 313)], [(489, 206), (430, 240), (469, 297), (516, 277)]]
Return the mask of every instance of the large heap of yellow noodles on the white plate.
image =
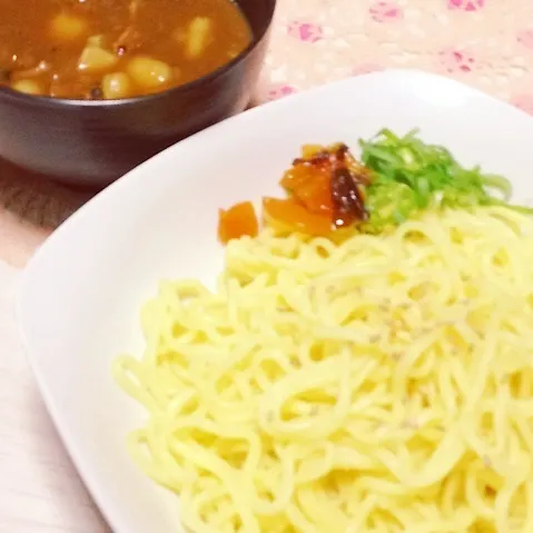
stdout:
[(426, 214), (227, 247), (165, 282), (113, 373), (193, 533), (531, 533), (533, 221)]

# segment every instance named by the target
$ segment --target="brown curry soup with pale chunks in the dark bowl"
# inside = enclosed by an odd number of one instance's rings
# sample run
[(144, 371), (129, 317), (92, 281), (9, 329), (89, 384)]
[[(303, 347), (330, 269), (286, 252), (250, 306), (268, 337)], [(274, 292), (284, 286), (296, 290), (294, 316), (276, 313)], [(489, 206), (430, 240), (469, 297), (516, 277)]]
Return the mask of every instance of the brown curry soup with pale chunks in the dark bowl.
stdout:
[(200, 78), (250, 40), (229, 0), (0, 0), (0, 86), (129, 98)]

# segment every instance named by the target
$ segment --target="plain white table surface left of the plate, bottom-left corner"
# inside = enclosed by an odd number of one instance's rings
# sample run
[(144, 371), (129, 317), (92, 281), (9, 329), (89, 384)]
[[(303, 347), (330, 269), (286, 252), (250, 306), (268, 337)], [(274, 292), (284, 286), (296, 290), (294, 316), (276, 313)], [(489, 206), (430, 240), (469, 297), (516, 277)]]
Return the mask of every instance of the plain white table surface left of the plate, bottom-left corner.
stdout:
[(109, 533), (20, 347), (12, 310), (18, 275), (0, 261), (0, 533)]

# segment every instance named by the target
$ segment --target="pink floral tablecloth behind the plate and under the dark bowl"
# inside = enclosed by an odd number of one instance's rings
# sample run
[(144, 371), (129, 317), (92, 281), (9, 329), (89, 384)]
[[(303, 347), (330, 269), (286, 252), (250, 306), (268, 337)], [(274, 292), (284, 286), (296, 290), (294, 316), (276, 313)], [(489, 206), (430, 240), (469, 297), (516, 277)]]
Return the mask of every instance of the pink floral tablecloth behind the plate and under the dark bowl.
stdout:
[[(255, 101), (389, 67), (451, 76), (533, 113), (533, 2), (279, 0)], [(23, 265), (86, 199), (0, 161), (0, 259)]]

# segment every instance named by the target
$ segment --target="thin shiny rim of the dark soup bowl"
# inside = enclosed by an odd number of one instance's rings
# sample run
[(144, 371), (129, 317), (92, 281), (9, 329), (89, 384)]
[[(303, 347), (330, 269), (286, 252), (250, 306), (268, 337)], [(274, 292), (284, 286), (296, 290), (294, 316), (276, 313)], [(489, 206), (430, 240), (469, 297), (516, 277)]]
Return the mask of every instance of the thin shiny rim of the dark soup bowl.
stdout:
[[(241, 8), (239, 7), (239, 0), (229, 0), (231, 3), (237, 4), (239, 10), (241, 11), (243, 17), (245, 17), (246, 21), (249, 24), (249, 18), (243, 12)], [(221, 65), (215, 70), (210, 70), (206, 75), (201, 76), (200, 78), (196, 78), (194, 80), (187, 81), (184, 85), (170, 87), (160, 92), (154, 92), (149, 95), (139, 95), (131, 98), (120, 98), (115, 100), (81, 100), (75, 98), (53, 98), (50, 96), (41, 96), (41, 95), (26, 95), (24, 92), (19, 92), (10, 87), (0, 86), (0, 99), (4, 99), (11, 101), (13, 103), (30, 103), (34, 106), (45, 106), (48, 108), (113, 108), (113, 107), (130, 107), (138, 103), (150, 102), (152, 100), (158, 100), (162, 98), (167, 98), (170, 95), (182, 92), (193, 92), (197, 89), (197, 87), (201, 86), (203, 83), (208, 83), (209, 81), (224, 76), (226, 72), (231, 70), (233, 67), (240, 63), (245, 60), (263, 41), (263, 39), (267, 36), (273, 20), (274, 13), (276, 11), (277, 0), (264, 0), (267, 4), (268, 12), (267, 18), (263, 22), (260, 31), (255, 33), (253, 32), (253, 38), (248, 46), (241, 50), (235, 58), (229, 60), (228, 62)]]

